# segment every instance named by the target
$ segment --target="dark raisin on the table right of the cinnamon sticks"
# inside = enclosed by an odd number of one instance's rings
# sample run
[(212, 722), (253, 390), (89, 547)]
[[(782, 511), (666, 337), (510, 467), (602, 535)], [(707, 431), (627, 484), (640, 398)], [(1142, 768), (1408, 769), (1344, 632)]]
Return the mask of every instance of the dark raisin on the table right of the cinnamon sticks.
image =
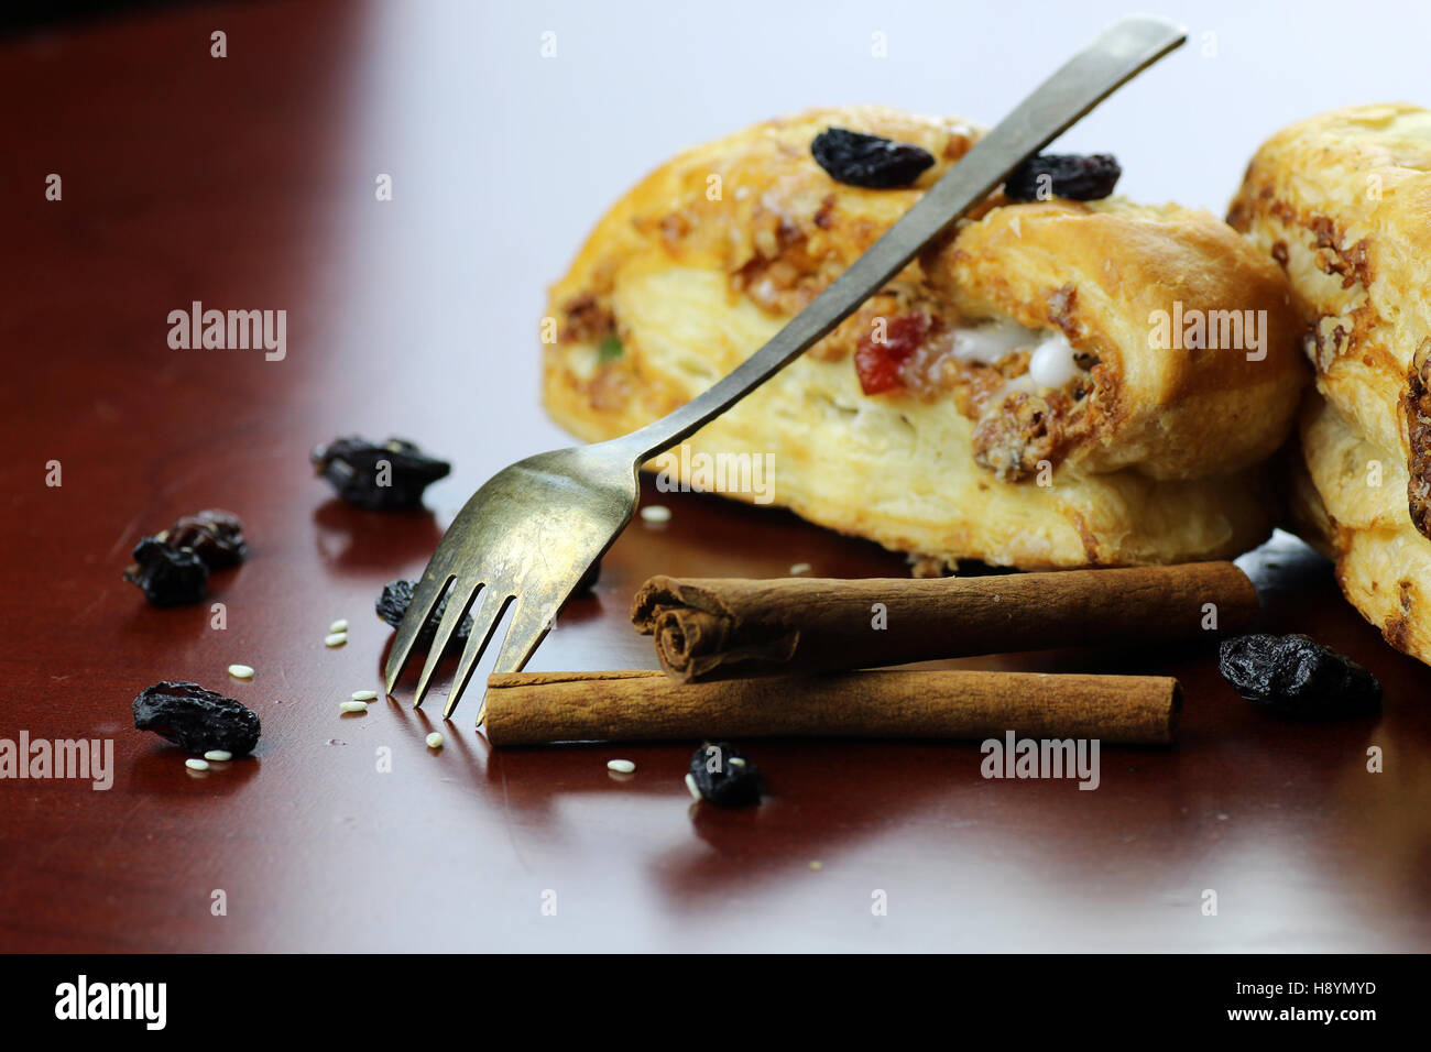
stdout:
[(1381, 708), (1375, 676), (1307, 635), (1224, 640), (1218, 668), (1242, 697), (1281, 716), (1327, 719)]

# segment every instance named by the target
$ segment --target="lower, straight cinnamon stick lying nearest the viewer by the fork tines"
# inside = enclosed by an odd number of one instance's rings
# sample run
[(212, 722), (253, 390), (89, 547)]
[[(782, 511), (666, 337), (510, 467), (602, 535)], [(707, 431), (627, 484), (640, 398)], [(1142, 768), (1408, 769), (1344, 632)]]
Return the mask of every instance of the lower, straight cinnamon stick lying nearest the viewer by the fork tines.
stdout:
[(487, 681), (494, 746), (714, 737), (1172, 741), (1163, 676), (877, 671), (675, 684), (658, 671), (504, 673)]

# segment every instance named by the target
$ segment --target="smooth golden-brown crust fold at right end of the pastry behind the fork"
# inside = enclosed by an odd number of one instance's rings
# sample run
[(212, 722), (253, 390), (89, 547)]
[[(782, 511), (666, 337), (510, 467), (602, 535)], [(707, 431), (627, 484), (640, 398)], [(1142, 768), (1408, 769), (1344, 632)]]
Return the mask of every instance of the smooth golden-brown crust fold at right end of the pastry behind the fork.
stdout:
[[(1120, 199), (999, 208), (964, 226), (929, 271), (964, 313), (1052, 323), (1098, 355), (1096, 412), (1069, 451), (1088, 474), (1236, 471), (1269, 457), (1291, 428), (1304, 382), (1291, 292), (1271, 260), (1206, 212)], [(1198, 311), (1229, 325), (1265, 311), (1266, 356), (1249, 355), (1246, 333), (1215, 341), (1232, 348), (1149, 346), (1155, 312), (1171, 328)]]

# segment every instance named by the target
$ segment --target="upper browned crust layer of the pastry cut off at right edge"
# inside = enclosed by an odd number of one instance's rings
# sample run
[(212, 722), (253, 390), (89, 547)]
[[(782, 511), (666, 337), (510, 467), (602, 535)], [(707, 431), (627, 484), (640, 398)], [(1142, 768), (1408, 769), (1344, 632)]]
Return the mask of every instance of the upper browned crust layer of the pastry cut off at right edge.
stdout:
[(1252, 159), (1229, 222), (1286, 269), (1318, 389), (1408, 465), (1412, 518), (1431, 528), (1417, 375), (1431, 348), (1431, 112), (1354, 106), (1285, 127)]

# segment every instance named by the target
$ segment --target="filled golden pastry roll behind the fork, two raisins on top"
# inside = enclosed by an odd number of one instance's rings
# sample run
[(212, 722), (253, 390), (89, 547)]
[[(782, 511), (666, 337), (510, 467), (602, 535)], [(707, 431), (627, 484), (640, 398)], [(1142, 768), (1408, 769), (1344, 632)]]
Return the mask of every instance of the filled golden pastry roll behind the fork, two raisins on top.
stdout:
[[(849, 186), (811, 157), (827, 127), (934, 163), (910, 187)], [(548, 411), (597, 441), (700, 394), (977, 136), (962, 120), (827, 109), (680, 155), (552, 286)], [(768, 454), (776, 502), (946, 564), (1229, 557), (1276, 517), (1258, 465), (1305, 382), (1296, 332), (1281, 269), (1206, 212), (996, 195), (661, 467)]]

